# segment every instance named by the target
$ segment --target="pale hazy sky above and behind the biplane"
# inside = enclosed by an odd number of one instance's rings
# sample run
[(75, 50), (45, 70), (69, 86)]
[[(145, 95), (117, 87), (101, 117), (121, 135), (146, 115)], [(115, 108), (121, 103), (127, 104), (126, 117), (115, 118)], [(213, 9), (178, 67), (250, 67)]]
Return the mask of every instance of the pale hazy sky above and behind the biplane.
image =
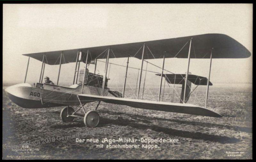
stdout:
[[(23, 83), (28, 57), (22, 54), (168, 39), (206, 33), (226, 34), (252, 53), (252, 4), (4, 4), (3, 83)], [(74, 54), (76, 56), (76, 53)], [(162, 66), (162, 59), (148, 60)], [(126, 65), (126, 58), (109, 62)], [(131, 58), (129, 66), (140, 68)], [(187, 59), (165, 60), (165, 69), (185, 73)], [(208, 77), (209, 59), (191, 59), (189, 72)], [(39, 81), (42, 62), (30, 59), (27, 82)], [(84, 64), (81, 64), (84, 68)], [(146, 68), (144, 63), (143, 68)], [(59, 66), (46, 65), (44, 76), (57, 82)], [(61, 66), (60, 83), (73, 82), (75, 63)], [(90, 72), (94, 65), (89, 66)], [(148, 70), (161, 69), (148, 65)], [(104, 73), (98, 63), (97, 73)], [(110, 66), (109, 83), (122, 85), (125, 67)], [(136, 84), (138, 70), (128, 70)], [(145, 76), (143, 74), (142, 78)], [(159, 84), (155, 74), (146, 81)], [(211, 82), (252, 83), (252, 56), (213, 59)]]

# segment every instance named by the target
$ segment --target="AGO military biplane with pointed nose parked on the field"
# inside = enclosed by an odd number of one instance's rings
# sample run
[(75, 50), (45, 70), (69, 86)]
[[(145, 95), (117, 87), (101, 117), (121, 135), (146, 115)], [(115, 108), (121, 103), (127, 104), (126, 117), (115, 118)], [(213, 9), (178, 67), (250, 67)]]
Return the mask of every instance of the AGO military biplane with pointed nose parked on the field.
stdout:
[[(162, 67), (160, 67), (161, 72), (156, 74), (159, 76), (160, 81), (159, 95), (156, 101), (143, 100), (140, 97), (141, 76), (142, 71), (144, 70), (143, 63), (146, 61), (146, 49), (150, 51), (147, 60), (163, 59)], [(194, 51), (194, 54), (191, 54), (192, 50)], [(103, 55), (103, 53), (105, 53), (105, 55)], [(109, 59), (111, 58), (110, 53), (113, 53), (114, 55), (112, 58), (127, 58), (122, 93), (112, 91), (108, 88), (109, 78), (107, 78), (107, 74)], [(126, 105), (140, 109), (222, 117), (219, 113), (209, 110), (206, 107), (209, 86), (212, 85), (210, 82), (212, 59), (248, 58), (251, 56), (251, 53), (242, 44), (227, 35), (203, 34), (172, 39), (29, 53), (23, 55), (28, 56), (24, 83), (16, 84), (5, 89), (6, 94), (12, 102), (22, 108), (29, 109), (65, 106), (60, 113), (60, 118), (63, 122), (70, 122), (78, 117), (84, 119), (84, 124), (87, 127), (96, 127), (100, 121), (100, 116), (97, 112), (100, 102)], [(134, 98), (125, 97), (125, 86), (130, 57), (141, 60), (140, 68), (138, 68), (140, 73), (138, 73), (137, 77), (136, 94)], [(34, 84), (34, 86), (26, 83), (30, 58), (42, 61), (39, 82)], [(164, 61), (166, 58), (187, 58), (188, 64), (186, 73), (174, 74), (166, 70), (164, 68)], [(104, 75), (95, 74), (97, 60), (100, 61), (100, 59), (106, 59)], [(189, 73), (190, 59), (210, 59), (208, 78)], [(61, 65), (70, 62), (76, 62), (73, 84), (71, 86), (61, 86), (59, 85)], [(148, 61), (146, 62), (149, 63)], [(84, 70), (80, 70), (81, 63), (85, 64)], [(90, 73), (87, 69), (87, 66), (91, 63), (95, 65), (94, 73)], [(59, 65), (56, 85), (43, 83), (45, 64)], [(160, 100), (163, 79), (169, 84), (182, 85), (179, 103), (163, 102)], [(205, 85), (207, 87), (204, 107), (187, 103), (191, 92), (193, 92), (191, 84), (196, 86)], [(111, 96), (109, 96), (109, 94), (111, 94)], [(97, 102), (97, 106), (95, 106), (95, 110), (86, 112), (85, 106), (90, 102)], [(78, 109), (75, 110), (73, 108), (75, 106), (77, 106)], [(80, 109), (83, 110), (84, 116), (77, 115), (77, 112)]]

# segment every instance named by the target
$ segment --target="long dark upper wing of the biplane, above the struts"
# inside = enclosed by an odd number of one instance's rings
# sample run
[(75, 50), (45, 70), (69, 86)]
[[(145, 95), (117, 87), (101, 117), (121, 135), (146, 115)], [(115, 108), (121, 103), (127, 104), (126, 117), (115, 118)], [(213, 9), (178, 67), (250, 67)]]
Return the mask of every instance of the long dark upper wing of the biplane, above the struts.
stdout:
[[(145, 42), (136, 42), (136, 43), (126, 43), (119, 45), (107, 45), (107, 46), (98, 46), (98, 47), (86, 47), (80, 49), (72, 50), (60, 50), (60, 51), (51, 51), (51, 52), (41, 52), (41, 53), (29, 53), (23, 54), (25, 56), (30, 56), (36, 60), (43, 60), (43, 55), (46, 56), (46, 64), (57, 65), (60, 63), (60, 54), (63, 53), (62, 63), (76, 62), (77, 51), (82, 52), (82, 60), (85, 62), (85, 53), (87, 50), (90, 51), (91, 56), (88, 57), (89, 62), (95, 58), (102, 59), (104, 52), (108, 47), (111, 48), (111, 53), (113, 51), (114, 55), (111, 54), (110, 58), (121, 58), (130, 56), (141, 59), (142, 46), (145, 43), (145, 50), (148, 54), (144, 59), (155, 59), (162, 58), (164, 52), (165, 58), (188, 58), (188, 48), (189, 40), (192, 40), (191, 47), (191, 58), (209, 58), (210, 50), (213, 49), (212, 58), (247, 58), (251, 56), (251, 53), (235, 39), (224, 35), (224, 34), (203, 34), (203, 35), (194, 35), (188, 37), (172, 38), (172, 39), (161, 39), (161, 40), (152, 40)], [(186, 46), (184, 46), (186, 45)], [(182, 47), (184, 48), (182, 49)], [(138, 50), (140, 49), (139, 53)], [(150, 51), (148, 50), (150, 49)], [(182, 49), (180, 51), (180, 49)], [(137, 53), (137, 54), (136, 54)], [(152, 53), (152, 54), (151, 54)], [(178, 54), (177, 54), (178, 53)], [(101, 54), (101, 55), (100, 55)], [(99, 56), (100, 55), (100, 56)]]

